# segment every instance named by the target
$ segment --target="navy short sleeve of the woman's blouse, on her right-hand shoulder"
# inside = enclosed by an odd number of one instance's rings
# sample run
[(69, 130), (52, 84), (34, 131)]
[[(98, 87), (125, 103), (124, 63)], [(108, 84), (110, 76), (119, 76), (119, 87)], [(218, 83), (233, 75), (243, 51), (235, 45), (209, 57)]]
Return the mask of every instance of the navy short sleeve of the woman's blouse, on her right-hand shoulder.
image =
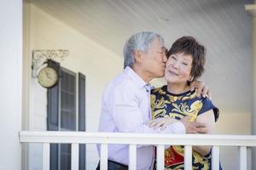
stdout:
[(212, 100), (208, 99), (208, 98), (201, 98), (202, 101), (202, 108), (201, 110), (198, 112), (198, 116), (212, 110), (214, 113), (214, 117), (215, 117), (215, 122), (218, 121), (218, 115), (219, 115), (219, 111), (218, 111), (218, 107), (216, 107), (215, 105), (212, 104)]

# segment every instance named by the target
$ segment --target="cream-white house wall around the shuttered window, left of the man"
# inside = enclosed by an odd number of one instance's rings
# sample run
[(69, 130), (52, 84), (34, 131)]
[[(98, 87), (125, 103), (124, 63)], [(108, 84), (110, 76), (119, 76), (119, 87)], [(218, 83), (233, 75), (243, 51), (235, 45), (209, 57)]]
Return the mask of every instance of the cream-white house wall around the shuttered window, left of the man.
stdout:
[[(46, 89), (38, 84), (31, 75), (32, 49), (68, 49), (69, 55), (61, 66), (82, 72), (86, 76), (86, 129), (96, 132), (106, 83), (122, 71), (123, 59), (110, 52), (73, 28), (55, 20), (40, 8), (27, 5), (26, 23), (26, 77), (29, 94), (27, 126), (30, 130), (46, 130)], [(41, 167), (41, 145), (30, 144), (29, 169)], [(87, 169), (93, 169), (98, 161), (95, 145), (87, 146)]]

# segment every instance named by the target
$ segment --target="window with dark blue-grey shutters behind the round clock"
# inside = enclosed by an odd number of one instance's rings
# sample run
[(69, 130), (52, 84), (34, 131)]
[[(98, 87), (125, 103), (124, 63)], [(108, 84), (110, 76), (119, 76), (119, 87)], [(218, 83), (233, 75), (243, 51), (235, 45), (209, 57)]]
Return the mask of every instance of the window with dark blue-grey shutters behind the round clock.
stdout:
[[(85, 131), (85, 76), (49, 61), (60, 79), (48, 89), (48, 130)], [(50, 144), (50, 170), (71, 169), (71, 144)], [(85, 144), (79, 145), (79, 170), (85, 169)]]

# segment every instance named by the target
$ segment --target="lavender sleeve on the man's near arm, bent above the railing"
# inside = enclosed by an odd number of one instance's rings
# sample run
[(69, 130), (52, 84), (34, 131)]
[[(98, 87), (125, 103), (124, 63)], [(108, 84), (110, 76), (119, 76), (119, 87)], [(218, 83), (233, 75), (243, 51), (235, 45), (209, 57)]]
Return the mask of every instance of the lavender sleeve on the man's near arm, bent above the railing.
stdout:
[[(149, 105), (148, 105), (149, 107)], [(148, 108), (149, 109), (149, 108)], [(173, 122), (164, 130), (148, 127), (148, 122), (143, 122), (143, 111), (139, 108), (139, 99), (132, 90), (120, 90), (113, 92), (113, 122), (124, 133), (185, 133), (182, 122)]]

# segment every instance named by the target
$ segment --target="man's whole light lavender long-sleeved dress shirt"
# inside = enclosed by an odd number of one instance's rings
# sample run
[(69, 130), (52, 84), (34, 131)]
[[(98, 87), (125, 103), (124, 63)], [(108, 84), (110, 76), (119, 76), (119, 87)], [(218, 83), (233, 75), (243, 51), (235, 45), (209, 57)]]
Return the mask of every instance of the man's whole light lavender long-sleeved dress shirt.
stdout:
[[(164, 130), (149, 128), (151, 121), (150, 84), (129, 66), (109, 82), (102, 97), (99, 131), (108, 133), (185, 133), (182, 122)], [(99, 150), (100, 145), (97, 145)], [(108, 159), (129, 164), (129, 145), (108, 144)], [(154, 146), (137, 145), (137, 169), (152, 169)]]

